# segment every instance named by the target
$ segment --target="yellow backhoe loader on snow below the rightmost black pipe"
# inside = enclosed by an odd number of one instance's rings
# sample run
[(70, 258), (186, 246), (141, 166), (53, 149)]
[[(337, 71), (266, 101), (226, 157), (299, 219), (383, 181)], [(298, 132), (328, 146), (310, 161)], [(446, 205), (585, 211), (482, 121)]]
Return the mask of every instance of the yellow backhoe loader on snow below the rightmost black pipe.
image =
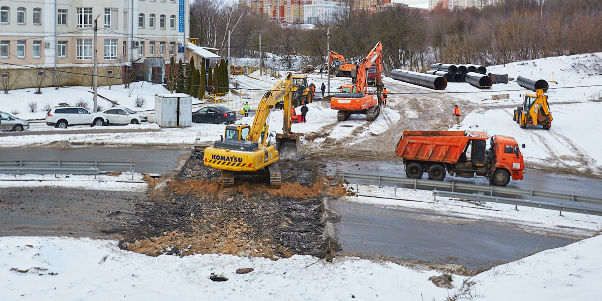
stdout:
[(517, 122), (521, 128), (527, 128), (527, 125), (541, 125), (544, 129), (550, 129), (552, 115), (544, 90), (536, 90), (535, 94), (525, 93), (523, 107), (514, 110), (512, 120)]

